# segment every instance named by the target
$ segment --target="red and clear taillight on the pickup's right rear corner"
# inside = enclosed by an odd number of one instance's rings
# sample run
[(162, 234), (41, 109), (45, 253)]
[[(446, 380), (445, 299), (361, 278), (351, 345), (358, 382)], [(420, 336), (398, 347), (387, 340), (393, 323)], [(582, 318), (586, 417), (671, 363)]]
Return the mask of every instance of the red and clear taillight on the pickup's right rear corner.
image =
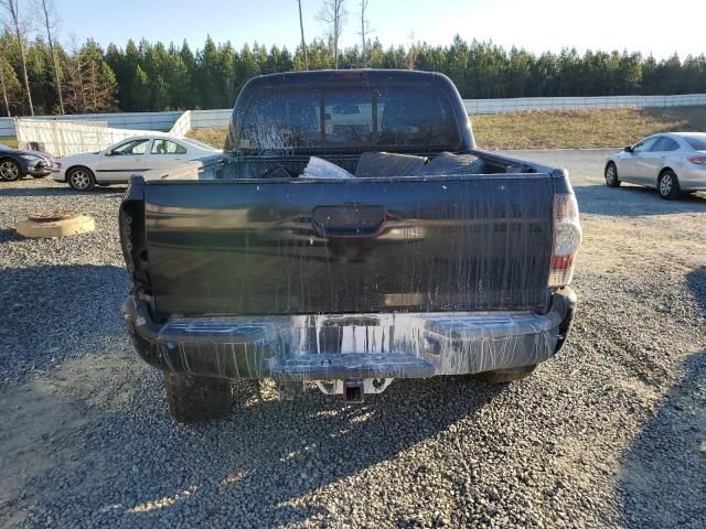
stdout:
[(554, 242), (549, 287), (565, 287), (571, 282), (574, 261), (581, 246), (581, 238), (576, 196), (573, 193), (554, 195)]

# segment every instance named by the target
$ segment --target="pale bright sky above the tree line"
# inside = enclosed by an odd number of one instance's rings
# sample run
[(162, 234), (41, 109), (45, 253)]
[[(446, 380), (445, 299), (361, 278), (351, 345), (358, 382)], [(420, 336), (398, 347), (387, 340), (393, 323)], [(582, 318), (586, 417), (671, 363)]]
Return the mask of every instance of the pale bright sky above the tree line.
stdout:
[[(29, 0), (20, 0), (25, 6)], [(192, 48), (206, 35), (293, 51), (300, 40), (296, 0), (54, 0), (61, 36), (92, 36), (103, 45), (125, 46), (128, 39), (186, 39)], [(323, 0), (302, 0), (307, 41), (324, 34), (317, 20)], [(98, 7), (99, 6), (99, 7)], [(342, 46), (360, 41), (360, 0), (344, 0), (349, 11)], [(706, 53), (706, 0), (370, 0), (367, 19), (384, 46), (426, 41), (450, 44), (492, 40), (510, 48), (558, 52), (563, 47), (628, 50), (664, 58)]]

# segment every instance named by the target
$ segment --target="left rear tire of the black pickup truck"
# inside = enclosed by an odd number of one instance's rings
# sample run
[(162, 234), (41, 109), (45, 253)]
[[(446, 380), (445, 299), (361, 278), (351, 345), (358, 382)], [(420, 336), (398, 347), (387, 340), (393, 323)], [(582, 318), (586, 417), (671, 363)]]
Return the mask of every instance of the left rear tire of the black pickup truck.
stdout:
[(164, 373), (169, 411), (176, 422), (206, 422), (227, 417), (233, 392), (231, 380)]

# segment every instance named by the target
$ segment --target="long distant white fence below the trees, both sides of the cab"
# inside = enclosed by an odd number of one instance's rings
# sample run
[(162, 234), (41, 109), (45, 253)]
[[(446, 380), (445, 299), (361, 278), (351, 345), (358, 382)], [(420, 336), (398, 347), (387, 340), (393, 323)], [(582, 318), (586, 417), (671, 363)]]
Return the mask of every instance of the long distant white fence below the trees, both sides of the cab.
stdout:
[[(680, 96), (614, 96), (614, 97), (518, 97), (510, 99), (464, 99), (463, 105), (470, 115), (518, 112), (524, 110), (563, 110), (614, 107), (683, 107), (706, 105), (706, 94), (686, 94)], [(225, 127), (231, 119), (229, 108), (216, 110), (190, 110), (188, 112), (122, 112), (122, 114), (82, 114), (71, 116), (38, 116), (34, 119), (105, 121), (108, 127), (133, 130), (172, 130), (178, 127), (181, 133), (188, 122), (192, 129)], [(184, 117), (189, 114), (189, 117)], [(183, 119), (182, 119), (183, 118)], [(181, 123), (180, 123), (181, 121)], [(0, 118), (0, 138), (17, 136), (14, 118)]]

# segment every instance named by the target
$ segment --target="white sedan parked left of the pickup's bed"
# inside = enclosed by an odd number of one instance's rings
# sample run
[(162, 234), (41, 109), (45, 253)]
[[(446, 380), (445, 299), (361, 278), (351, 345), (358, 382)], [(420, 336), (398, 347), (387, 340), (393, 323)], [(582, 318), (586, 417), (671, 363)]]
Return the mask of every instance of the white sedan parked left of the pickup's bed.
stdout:
[[(74, 154), (57, 160), (52, 172), (56, 182), (66, 182), (76, 191), (89, 191), (96, 185), (124, 184), (133, 174), (169, 169), (220, 152), (222, 151), (189, 138), (139, 136), (99, 152)], [(150, 174), (159, 172), (152, 171)]]

